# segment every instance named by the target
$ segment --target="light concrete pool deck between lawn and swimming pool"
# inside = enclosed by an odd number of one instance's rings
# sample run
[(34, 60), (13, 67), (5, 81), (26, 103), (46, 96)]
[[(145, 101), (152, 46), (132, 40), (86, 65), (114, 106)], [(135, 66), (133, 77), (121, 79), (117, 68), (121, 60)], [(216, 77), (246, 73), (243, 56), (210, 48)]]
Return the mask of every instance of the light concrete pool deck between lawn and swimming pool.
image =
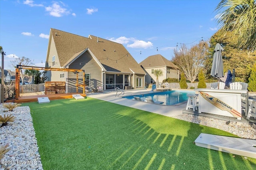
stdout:
[[(118, 92), (119, 94), (120, 92)], [(152, 113), (157, 113), (160, 115), (165, 115), (168, 117), (181, 115), (182, 110), (186, 109), (186, 104), (182, 104), (180, 106), (166, 106), (166, 105), (157, 105), (157, 104), (150, 104), (147, 102), (140, 102), (136, 100), (130, 100), (127, 98), (122, 98), (124, 96), (131, 96), (131, 95), (140, 95), (140, 94), (148, 94), (150, 93), (149, 90), (124, 90), (124, 95), (120, 95), (119, 97), (116, 96), (116, 92), (114, 91), (104, 91), (103, 93), (95, 93), (95, 94), (87, 94), (90, 98), (95, 98), (99, 100), (104, 100), (107, 102), (112, 102), (115, 104), (120, 104), (123, 106), (128, 106), (144, 111), (149, 111)]]

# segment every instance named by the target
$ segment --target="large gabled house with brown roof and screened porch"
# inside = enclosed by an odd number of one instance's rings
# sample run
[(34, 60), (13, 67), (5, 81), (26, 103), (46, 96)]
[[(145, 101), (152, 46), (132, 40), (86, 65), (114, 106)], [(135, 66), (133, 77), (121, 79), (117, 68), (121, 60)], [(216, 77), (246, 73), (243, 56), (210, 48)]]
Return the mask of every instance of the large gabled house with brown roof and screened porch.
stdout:
[[(85, 84), (91, 88), (145, 86), (146, 73), (122, 44), (92, 35), (87, 38), (51, 28), (45, 67), (84, 70)], [(46, 81), (65, 81), (66, 92), (76, 92), (73, 72), (45, 71), (44, 76), (48, 77)], [(82, 72), (78, 79), (78, 84), (83, 84)], [(82, 87), (78, 92), (82, 92)]]

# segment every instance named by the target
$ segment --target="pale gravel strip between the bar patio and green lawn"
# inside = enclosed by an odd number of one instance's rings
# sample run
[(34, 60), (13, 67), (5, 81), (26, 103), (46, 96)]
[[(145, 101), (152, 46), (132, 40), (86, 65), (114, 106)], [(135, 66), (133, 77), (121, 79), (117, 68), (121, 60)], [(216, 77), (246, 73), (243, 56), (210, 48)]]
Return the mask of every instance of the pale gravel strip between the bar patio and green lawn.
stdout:
[(216, 129), (220, 129), (226, 132), (230, 132), (234, 135), (237, 135), (244, 139), (254, 139), (256, 140), (256, 125), (255, 124), (246, 124), (240, 122), (232, 122), (227, 125), (226, 121), (211, 119), (208, 117), (198, 116), (198, 115), (190, 115), (190, 114), (182, 114), (178, 116), (173, 116), (173, 118), (181, 119), (184, 121), (189, 121), (192, 123), (197, 123), (200, 125), (205, 125), (208, 127), (214, 127)]

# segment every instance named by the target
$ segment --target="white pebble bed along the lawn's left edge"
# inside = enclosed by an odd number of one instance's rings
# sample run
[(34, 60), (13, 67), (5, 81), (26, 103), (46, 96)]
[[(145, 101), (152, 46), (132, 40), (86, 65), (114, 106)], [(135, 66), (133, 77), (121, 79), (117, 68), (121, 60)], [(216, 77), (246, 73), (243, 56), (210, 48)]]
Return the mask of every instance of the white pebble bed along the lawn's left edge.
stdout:
[(13, 111), (4, 110), (6, 108), (1, 104), (0, 115), (12, 114), (15, 120), (0, 127), (0, 146), (8, 144), (10, 148), (0, 160), (0, 170), (42, 170), (30, 108), (23, 106)]

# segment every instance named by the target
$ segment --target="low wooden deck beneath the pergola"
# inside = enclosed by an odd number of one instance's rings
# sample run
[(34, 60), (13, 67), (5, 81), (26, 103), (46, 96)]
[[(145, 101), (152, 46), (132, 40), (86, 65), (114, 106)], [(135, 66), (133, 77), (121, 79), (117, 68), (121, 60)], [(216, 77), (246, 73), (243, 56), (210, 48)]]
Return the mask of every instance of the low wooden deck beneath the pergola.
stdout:
[(37, 102), (37, 98), (48, 97), (49, 100), (58, 100), (58, 99), (71, 99), (73, 94), (80, 94), (83, 97), (86, 97), (86, 94), (81, 93), (64, 93), (64, 94), (44, 94), (44, 95), (35, 95), (35, 96), (20, 96), (18, 99), (7, 100), (6, 102), (16, 102), (16, 103), (27, 103), (27, 102)]

